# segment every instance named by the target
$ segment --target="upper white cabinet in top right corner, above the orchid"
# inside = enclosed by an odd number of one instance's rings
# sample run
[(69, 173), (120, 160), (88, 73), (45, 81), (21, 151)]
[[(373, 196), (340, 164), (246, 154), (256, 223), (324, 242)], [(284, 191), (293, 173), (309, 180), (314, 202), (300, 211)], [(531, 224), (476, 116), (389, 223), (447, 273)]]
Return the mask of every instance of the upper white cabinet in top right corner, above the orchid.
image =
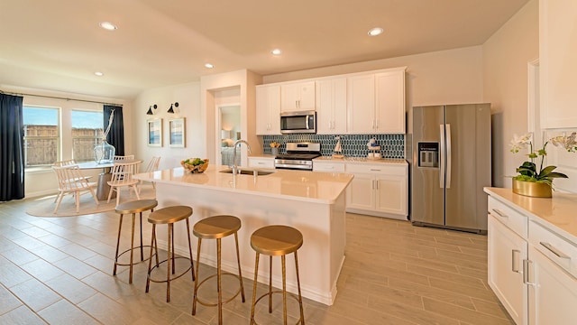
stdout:
[(539, 1), (541, 126), (577, 127), (577, 1)]

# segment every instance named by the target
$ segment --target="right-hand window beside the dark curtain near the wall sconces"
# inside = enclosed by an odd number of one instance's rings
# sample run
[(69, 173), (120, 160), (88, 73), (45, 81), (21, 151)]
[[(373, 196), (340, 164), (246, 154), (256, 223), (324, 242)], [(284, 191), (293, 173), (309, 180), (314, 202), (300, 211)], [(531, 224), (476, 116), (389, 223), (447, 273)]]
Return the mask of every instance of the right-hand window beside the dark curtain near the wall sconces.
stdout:
[(72, 156), (80, 162), (94, 160), (94, 147), (104, 136), (102, 112), (72, 110)]

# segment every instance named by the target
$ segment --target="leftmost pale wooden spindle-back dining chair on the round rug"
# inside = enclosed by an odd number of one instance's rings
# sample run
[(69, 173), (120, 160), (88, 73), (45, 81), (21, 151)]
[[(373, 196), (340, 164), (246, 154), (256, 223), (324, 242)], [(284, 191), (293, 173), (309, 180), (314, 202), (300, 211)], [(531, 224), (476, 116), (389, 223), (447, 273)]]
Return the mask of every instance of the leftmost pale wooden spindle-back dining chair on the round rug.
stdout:
[(96, 193), (93, 189), (96, 186), (96, 182), (87, 181), (87, 179), (82, 175), (82, 172), (80, 172), (78, 165), (52, 166), (52, 170), (56, 172), (59, 183), (59, 193), (56, 197), (57, 202), (56, 208), (54, 208), (54, 213), (58, 212), (62, 199), (69, 193), (71, 193), (76, 200), (77, 213), (80, 210), (80, 194), (83, 192), (90, 192), (96, 205), (99, 204), (96, 199)]

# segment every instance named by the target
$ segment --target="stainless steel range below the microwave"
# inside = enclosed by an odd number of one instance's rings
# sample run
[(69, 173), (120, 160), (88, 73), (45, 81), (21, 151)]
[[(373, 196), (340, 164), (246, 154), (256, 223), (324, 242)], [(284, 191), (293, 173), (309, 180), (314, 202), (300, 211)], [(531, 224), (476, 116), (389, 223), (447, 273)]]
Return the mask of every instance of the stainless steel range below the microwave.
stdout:
[(275, 157), (277, 169), (313, 170), (313, 159), (321, 155), (321, 144), (287, 143), (287, 153)]

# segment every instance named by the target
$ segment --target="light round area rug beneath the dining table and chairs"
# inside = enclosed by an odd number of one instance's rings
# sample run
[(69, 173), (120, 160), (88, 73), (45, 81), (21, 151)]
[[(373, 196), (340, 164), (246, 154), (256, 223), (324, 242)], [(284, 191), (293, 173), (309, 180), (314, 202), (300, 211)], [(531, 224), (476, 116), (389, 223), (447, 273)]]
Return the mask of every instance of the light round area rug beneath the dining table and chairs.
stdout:
[[(156, 197), (155, 190), (151, 185), (144, 185), (141, 187), (140, 197), (144, 199), (154, 199)], [(67, 195), (62, 199), (60, 207), (57, 213), (53, 213), (56, 203), (54, 199), (56, 195), (50, 195), (35, 199), (37, 202), (30, 209), (26, 210), (26, 213), (34, 217), (75, 217), (83, 216), (94, 213), (101, 213), (106, 211), (113, 211), (116, 208), (116, 199), (111, 199), (110, 203), (106, 203), (106, 200), (99, 201), (96, 206), (92, 195), (84, 194), (80, 196), (80, 209), (78, 213), (76, 212), (76, 201), (72, 195)], [(120, 196), (120, 202), (127, 202), (129, 200), (137, 200), (134, 193), (128, 195), (127, 190), (123, 190)]]

